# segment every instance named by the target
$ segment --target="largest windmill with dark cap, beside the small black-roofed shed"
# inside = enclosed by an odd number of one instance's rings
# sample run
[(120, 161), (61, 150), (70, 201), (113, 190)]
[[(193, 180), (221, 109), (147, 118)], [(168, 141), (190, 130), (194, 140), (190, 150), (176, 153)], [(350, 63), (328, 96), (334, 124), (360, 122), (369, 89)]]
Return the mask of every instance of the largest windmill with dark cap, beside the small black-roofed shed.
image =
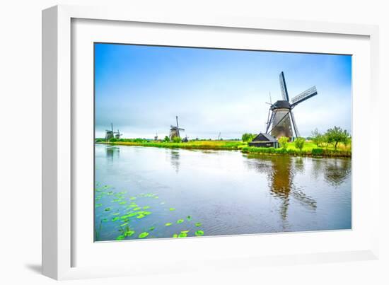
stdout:
[(277, 139), (280, 136), (286, 136), (293, 139), (293, 137), (300, 136), (300, 133), (298, 132), (292, 110), (296, 105), (318, 95), (318, 91), (316, 90), (316, 86), (313, 86), (289, 100), (284, 71), (281, 71), (281, 74), (279, 74), (279, 85), (281, 86), (282, 100), (278, 100), (274, 104), (270, 103), (269, 114), (267, 115), (266, 133), (271, 134)]

